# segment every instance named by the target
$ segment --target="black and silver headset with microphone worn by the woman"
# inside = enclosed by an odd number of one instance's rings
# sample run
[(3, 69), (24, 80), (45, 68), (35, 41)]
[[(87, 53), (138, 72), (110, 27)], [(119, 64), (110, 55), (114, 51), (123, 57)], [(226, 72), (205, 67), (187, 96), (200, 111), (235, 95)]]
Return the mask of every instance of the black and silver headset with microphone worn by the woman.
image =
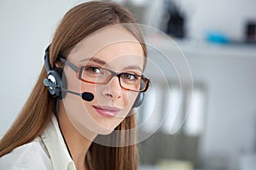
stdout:
[[(55, 98), (62, 99), (65, 97), (66, 93), (80, 95), (82, 99), (86, 101), (91, 101), (94, 98), (93, 94), (84, 92), (83, 94), (78, 94), (72, 91), (67, 90), (67, 79), (65, 74), (63, 74), (63, 69), (56, 67), (54, 70), (51, 70), (49, 65), (49, 47), (45, 49), (44, 54), (44, 65), (47, 71), (47, 78), (44, 78), (44, 86), (46, 86), (49, 90), (49, 94), (54, 96)], [(132, 108), (137, 108), (143, 104), (144, 92), (139, 92), (137, 94), (137, 99), (135, 100)]]

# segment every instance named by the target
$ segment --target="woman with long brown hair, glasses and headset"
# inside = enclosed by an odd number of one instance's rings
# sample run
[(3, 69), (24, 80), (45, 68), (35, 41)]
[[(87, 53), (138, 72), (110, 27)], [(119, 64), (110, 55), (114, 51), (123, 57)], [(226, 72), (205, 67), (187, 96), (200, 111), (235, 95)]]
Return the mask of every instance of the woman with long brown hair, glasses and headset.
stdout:
[(0, 169), (137, 169), (135, 133), (125, 130), (136, 126), (133, 108), (149, 86), (146, 56), (136, 21), (118, 4), (68, 11), (46, 71), (1, 139)]

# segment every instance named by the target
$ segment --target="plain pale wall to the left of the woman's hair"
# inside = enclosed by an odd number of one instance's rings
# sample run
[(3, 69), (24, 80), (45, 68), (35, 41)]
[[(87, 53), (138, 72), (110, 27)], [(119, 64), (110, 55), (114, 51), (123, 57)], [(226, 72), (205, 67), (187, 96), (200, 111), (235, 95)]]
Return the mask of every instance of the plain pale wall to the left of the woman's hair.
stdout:
[(62, 15), (79, 2), (0, 1), (0, 137), (30, 94)]

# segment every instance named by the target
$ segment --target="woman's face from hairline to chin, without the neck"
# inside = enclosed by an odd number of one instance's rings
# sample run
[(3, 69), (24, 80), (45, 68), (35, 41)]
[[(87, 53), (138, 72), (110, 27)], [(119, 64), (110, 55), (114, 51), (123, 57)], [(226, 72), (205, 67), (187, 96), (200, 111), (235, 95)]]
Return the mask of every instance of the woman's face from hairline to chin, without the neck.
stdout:
[[(109, 71), (125, 73), (120, 79), (129, 81), (127, 83), (132, 82), (131, 74), (142, 75), (144, 65), (141, 44), (121, 26), (108, 26), (86, 37), (73, 48), (67, 60), (78, 67), (87, 66), (86, 71), (90, 74), (102, 71), (107, 71), (105, 75)], [(73, 94), (67, 94), (63, 99), (69, 120), (85, 137), (89, 133), (111, 133), (131, 111), (138, 93), (121, 88), (119, 77), (97, 84), (79, 80), (76, 72), (67, 65), (64, 72), (68, 90), (94, 94), (90, 102)]]

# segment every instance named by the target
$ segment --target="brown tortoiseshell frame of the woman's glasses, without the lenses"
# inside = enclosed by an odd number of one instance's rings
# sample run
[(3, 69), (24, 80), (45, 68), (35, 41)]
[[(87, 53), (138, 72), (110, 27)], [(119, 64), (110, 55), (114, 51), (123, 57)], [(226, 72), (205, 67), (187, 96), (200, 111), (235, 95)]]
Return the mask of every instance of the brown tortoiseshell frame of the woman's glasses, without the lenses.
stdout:
[(111, 73), (111, 77), (109, 78), (109, 80), (107, 82), (102, 82), (102, 83), (97, 83), (97, 82), (90, 82), (90, 81), (86, 81), (82, 78), (82, 72), (84, 71), (84, 68), (86, 68), (87, 66), (81, 66), (81, 67), (78, 67), (76, 65), (73, 65), (73, 63), (71, 63), (70, 61), (68, 61), (67, 59), (64, 59), (64, 58), (60, 58), (61, 62), (63, 62), (65, 65), (69, 66), (73, 71), (76, 72), (76, 76), (77, 78), (80, 80), (80, 81), (83, 81), (83, 82), (89, 82), (89, 83), (92, 83), (92, 84), (107, 84), (113, 77), (118, 77), (119, 79), (119, 85), (121, 88), (125, 89), (125, 90), (128, 90), (128, 91), (133, 91), (133, 92), (146, 92), (149, 88), (149, 85), (150, 85), (150, 80), (148, 77), (145, 77), (144, 75), (136, 75), (136, 74), (132, 74), (132, 75), (135, 75), (137, 77), (141, 77), (143, 80), (146, 80), (144, 82), (145, 83), (145, 88), (143, 90), (131, 90), (131, 89), (128, 89), (128, 88), (124, 88), (122, 87), (121, 85), (121, 82), (120, 82), (120, 77), (122, 74), (124, 74), (124, 72), (115, 72), (115, 71), (111, 71), (109, 69), (106, 69), (106, 68), (101, 68), (103, 70), (106, 70), (106, 71), (109, 71)]

